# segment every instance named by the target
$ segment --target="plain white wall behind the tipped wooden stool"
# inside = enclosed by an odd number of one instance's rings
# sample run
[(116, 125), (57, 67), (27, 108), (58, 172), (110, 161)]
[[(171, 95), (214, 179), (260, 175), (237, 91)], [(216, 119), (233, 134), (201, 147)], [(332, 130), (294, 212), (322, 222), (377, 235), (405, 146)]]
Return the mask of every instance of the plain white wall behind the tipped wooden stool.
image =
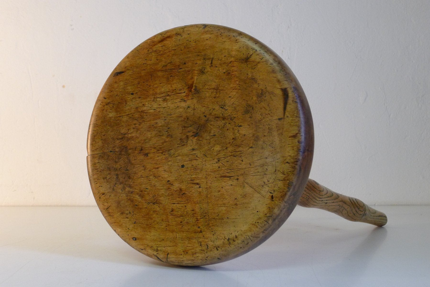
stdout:
[(131, 49), (194, 23), (292, 68), (315, 125), (311, 178), (368, 204), (430, 204), (430, 1), (0, 0), (0, 205), (95, 205), (86, 133)]

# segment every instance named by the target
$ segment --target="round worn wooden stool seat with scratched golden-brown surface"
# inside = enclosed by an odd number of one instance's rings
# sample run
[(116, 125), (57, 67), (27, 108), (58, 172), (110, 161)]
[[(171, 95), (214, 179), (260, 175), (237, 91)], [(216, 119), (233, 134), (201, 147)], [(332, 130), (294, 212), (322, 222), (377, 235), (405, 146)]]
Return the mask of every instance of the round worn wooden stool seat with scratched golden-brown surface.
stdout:
[(303, 90), (267, 46), (216, 25), (132, 50), (91, 117), (88, 170), (107, 222), (154, 259), (205, 265), (252, 250), (288, 218), (313, 155)]

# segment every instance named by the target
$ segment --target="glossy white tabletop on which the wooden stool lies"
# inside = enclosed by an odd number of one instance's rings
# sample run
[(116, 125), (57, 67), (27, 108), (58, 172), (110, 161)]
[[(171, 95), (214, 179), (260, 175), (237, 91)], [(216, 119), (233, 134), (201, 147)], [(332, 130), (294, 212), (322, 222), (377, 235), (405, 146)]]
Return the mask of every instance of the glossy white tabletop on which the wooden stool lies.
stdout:
[(0, 207), (0, 286), (430, 286), (430, 207), (376, 208), (383, 228), (297, 207), (251, 252), (186, 268), (129, 247), (97, 207)]

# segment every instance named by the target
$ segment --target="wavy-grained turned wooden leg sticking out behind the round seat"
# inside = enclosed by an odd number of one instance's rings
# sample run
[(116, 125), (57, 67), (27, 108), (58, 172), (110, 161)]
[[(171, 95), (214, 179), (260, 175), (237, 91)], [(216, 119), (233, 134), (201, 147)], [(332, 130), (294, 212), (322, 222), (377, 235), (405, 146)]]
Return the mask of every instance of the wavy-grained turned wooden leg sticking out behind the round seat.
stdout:
[(327, 210), (351, 221), (370, 223), (377, 226), (387, 224), (387, 216), (381, 211), (369, 207), (356, 198), (338, 194), (308, 179), (298, 205)]

